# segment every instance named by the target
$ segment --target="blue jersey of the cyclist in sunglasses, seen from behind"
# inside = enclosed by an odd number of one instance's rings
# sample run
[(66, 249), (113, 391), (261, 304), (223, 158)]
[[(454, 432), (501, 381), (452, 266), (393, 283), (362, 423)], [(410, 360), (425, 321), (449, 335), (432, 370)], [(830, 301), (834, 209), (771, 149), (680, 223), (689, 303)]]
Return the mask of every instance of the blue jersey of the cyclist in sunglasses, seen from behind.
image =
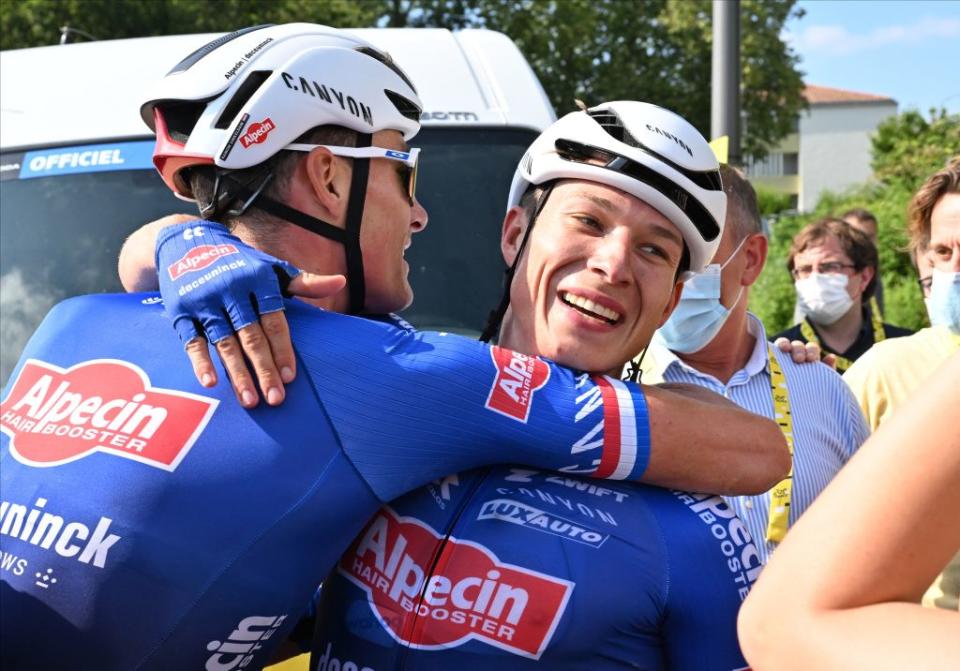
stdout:
[(637, 478), (639, 388), (291, 302), (300, 375), (246, 411), (154, 296), (48, 315), (0, 404), (4, 668), (259, 668), (378, 506), (522, 461)]

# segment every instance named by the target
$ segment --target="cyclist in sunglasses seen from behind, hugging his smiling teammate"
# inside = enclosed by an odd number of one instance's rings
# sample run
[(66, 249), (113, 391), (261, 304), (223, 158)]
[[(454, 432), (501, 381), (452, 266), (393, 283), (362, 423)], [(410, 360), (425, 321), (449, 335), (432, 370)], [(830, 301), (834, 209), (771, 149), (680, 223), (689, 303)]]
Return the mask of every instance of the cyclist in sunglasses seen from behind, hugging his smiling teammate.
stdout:
[[(326, 49), (326, 56), (311, 46)], [(286, 50), (291, 53), (284, 56)], [(351, 62), (358, 71), (369, 66), (371, 76), (399, 87), (403, 78), (395, 66), (371, 50), (310, 25), (263, 27), (217, 40), (169, 76), (163, 100), (155, 96), (148, 104), (160, 111), (153, 118), (166, 129), (158, 139), (158, 167), (181, 195), (196, 198), (247, 241), (289, 260), (322, 259), (330, 264), (324, 270), (349, 263), (339, 241), (304, 226), (334, 236), (333, 229), (351, 230), (348, 203), (362, 199), (358, 237), (371, 252), (367, 260), (382, 251), (384, 263), (402, 272), (417, 206), (391, 168), (412, 157), (388, 151), (405, 150), (401, 136), (413, 128), (400, 126), (403, 114), (396, 115), (397, 127), (371, 129), (384, 153), (371, 159), (365, 189), (356, 185), (357, 164), (366, 159), (339, 156), (352, 151), (342, 147), (346, 141), (324, 140), (333, 148), (310, 152), (293, 147), (283, 153), (299, 158), (279, 157), (277, 164), (218, 165), (234, 160), (234, 152), (260, 151), (257, 145), (274, 133), (283, 137), (281, 127), (293, 123), (280, 103), (257, 107), (261, 91), (293, 96), (319, 123), (330, 123), (322, 110), (334, 104), (344, 123), (345, 115), (358, 125), (366, 116), (379, 123), (365, 88), (350, 88), (346, 76), (335, 84), (310, 60)], [(308, 61), (311, 69), (301, 69)], [(191, 72), (201, 71), (194, 68), (205, 68), (209, 86), (194, 85)], [(302, 90), (301, 77), (316, 95)], [(177, 97), (173, 81), (190, 86)], [(330, 103), (320, 93), (324, 86)], [(387, 90), (394, 89), (384, 84)], [(218, 96), (230, 98), (222, 109)], [(226, 126), (219, 140), (202, 149), (191, 144), (190, 129), (218, 125)], [(297, 129), (292, 139), (319, 144), (303, 132)], [(170, 142), (181, 146), (168, 151)], [(290, 142), (285, 137), (278, 144), (289, 148)], [(264, 214), (264, 204), (280, 216)], [(291, 219), (296, 225), (285, 221)], [(162, 240), (159, 259), (173, 296), (226, 286), (258, 262), (259, 252), (221, 224), (176, 226)], [(273, 276), (272, 263), (258, 267)], [(395, 276), (370, 269), (364, 280), (369, 302)], [(399, 289), (387, 300), (409, 300), (402, 283)], [(258, 292), (248, 284), (229, 291), (238, 298), (227, 302), (226, 317), (219, 311), (201, 315), (208, 333), (228, 317), (242, 322), (248, 310), (280, 305), (275, 290)], [(190, 336), (189, 318), (167, 308)], [(504, 461), (622, 479), (652, 473), (661, 482), (682, 482), (678, 469), (664, 468), (658, 456), (682, 443), (675, 418), (664, 421), (667, 407), (702, 412), (705, 422), (729, 421), (739, 437), (749, 434), (774, 448), (767, 456), (754, 445), (726, 441), (728, 457), (752, 459), (744, 457), (751, 452), (765, 460), (739, 473), (742, 487), (735, 489), (762, 488), (785, 469), (776, 427), (746, 413), (721, 414), (715, 404), (659, 390), (647, 399), (632, 385), (575, 376), (453, 336), (417, 334), (299, 302), (285, 308), (301, 374), (283, 408), (253, 412), (225, 385), (204, 387), (193, 379), (179, 343), (166, 334), (155, 296), (79, 297), (51, 311), (24, 350), (0, 407), (0, 549), (5, 561), (15, 557), (15, 568), (0, 573), (4, 667), (262, 666), (381, 502), (444, 474)], [(518, 371), (529, 374), (522, 396), (508, 384), (514, 378), (502, 377)], [(585, 393), (598, 395), (591, 410), (603, 414), (589, 429), (575, 412)], [(709, 442), (712, 432), (701, 433), (694, 439)], [(651, 456), (652, 441), (658, 447)]]

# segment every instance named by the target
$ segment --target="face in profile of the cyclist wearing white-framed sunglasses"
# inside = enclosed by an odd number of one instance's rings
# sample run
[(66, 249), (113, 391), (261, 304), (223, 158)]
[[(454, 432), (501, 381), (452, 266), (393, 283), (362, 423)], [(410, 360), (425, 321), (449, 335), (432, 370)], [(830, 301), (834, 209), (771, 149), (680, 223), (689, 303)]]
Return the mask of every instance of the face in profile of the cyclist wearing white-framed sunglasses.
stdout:
[[(380, 131), (373, 144), (386, 149), (405, 150), (397, 131)], [(367, 200), (360, 227), (366, 282), (365, 310), (370, 313), (396, 312), (410, 305), (413, 289), (407, 279), (410, 267), (403, 258), (411, 236), (427, 225), (427, 212), (407, 194), (403, 163), (389, 159), (370, 161)]]

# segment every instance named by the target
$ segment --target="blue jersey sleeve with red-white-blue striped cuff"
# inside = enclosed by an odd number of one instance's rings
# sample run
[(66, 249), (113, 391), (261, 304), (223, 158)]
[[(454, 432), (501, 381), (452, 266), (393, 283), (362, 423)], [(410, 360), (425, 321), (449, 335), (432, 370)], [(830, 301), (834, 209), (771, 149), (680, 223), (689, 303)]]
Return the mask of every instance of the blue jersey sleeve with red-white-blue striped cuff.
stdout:
[(288, 315), (344, 451), (383, 501), (496, 463), (620, 480), (646, 469), (637, 385), (455, 335), (292, 305)]

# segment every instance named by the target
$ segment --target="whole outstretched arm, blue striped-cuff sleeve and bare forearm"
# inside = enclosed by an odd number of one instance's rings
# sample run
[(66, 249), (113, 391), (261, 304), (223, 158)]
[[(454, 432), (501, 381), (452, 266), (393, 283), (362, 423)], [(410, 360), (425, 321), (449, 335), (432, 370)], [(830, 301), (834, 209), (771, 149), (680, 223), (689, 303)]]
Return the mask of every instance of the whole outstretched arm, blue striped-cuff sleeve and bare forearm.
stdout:
[[(381, 500), (498, 463), (724, 492), (762, 490), (787, 470), (772, 422), (700, 390), (654, 389), (651, 420), (643, 390), (607, 376), (293, 302), (287, 317), (344, 451)], [(757, 442), (783, 450), (783, 468), (755, 466)]]

